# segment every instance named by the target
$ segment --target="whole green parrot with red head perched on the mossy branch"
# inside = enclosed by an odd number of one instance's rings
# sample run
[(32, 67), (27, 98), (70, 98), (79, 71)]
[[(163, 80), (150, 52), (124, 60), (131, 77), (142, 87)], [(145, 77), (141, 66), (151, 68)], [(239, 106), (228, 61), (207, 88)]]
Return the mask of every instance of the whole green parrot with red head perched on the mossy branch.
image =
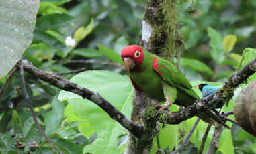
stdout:
[[(168, 108), (172, 103), (189, 106), (200, 99), (185, 76), (171, 62), (147, 52), (138, 45), (126, 46), (122, 49), (121, 57), (136, 90), (143, 91), (157, 102), (166, 101), (159, 110)], [(210, 109), (197, 116), (212, 125), (222, 124), (229, 128)]]

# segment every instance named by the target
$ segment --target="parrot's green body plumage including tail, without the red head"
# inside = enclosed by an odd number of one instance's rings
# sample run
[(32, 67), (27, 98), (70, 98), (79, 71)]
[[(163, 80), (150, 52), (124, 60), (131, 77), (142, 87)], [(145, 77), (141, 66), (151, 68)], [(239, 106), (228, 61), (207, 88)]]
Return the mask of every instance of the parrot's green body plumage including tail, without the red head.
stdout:
[[(146, 50), (143, 52), (144, 60), (140, 69), (131, 71), (130, 76), (149, 97), (155, 98), (159, 102), (168, 97), (169, 100), (181, 106), (189, 106), (199, 99), (189, 81), (171, 62)], [(153, 67), (154, 58), (157, 58), (155, 67)], [(204, 110), (198, 114), (198, 117), (212, 125), (222, 123), (228, 127), (211, 110)]]

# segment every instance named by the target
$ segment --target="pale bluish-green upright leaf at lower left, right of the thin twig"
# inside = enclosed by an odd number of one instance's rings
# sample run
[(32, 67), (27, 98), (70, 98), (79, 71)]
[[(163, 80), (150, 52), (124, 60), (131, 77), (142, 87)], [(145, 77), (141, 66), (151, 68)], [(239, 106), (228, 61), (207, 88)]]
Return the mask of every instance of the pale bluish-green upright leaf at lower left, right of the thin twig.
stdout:
[(58, 127), (60, 126), (62, 116), (64, 112), (64, 105), (54, 97), (52, 100), (52, 110), (47, 112), (44, 118), (44, 125), (46, 127), (45, 133), (50, 136), (53, 133), (56, 133)]

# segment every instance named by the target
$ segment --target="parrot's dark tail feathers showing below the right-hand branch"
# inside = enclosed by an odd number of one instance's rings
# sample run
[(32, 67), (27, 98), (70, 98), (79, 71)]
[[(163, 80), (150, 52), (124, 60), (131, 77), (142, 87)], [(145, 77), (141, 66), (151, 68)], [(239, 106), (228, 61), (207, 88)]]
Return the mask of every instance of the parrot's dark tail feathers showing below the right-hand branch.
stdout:
[(206, 123), (210, 123), (211, 125), (223, 125), (227, 129), (230, 129), (228, 125), (220, 117), (216, 116), (210, 109), (206, 109), (200, 114), (198, 114), (198, 117), (205, 121)]

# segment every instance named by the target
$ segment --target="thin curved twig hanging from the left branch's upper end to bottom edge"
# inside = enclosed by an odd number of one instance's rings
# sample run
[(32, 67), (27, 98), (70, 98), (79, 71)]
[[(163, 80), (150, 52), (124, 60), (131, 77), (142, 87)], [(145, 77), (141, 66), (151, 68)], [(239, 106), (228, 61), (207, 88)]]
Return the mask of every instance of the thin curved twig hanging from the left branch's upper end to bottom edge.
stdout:
[(48, 143), (50, 143), (50, 145), (52, 145), (52, 147), (58, 151), (58, 153), (62, 153), (58, 147), (56, 147), (56, 145), (52, 142), (52, 140), (50, 140), (50, 138), (44, 133), (44, 131), (42, 130), (42, 128), (40, 127), (39, 123), (38, 123), (38, 119), (36, 118), (36, 114), (34, 112), (34, 109), (33, 109), (33, 106), (32, 106), (32, 102), (31, 102), (31, 99), (30, 99), (30, 96), (28, 95), (28, 91), (27, 91), (27, 88), (26, 88), (26, 82), (25, 82), (25, 79), (24, 79), (24, 69), (23, 69), (23, 66), (20, 65), (19, 66), (20, 68), (20, 75), (22, 76), (22, 86), (23, 86), (23, 92), (24, 92), (24, 95), (25, 95), (25, 98), (26, 98), (26, 101), (28, 102), (28, 107), (30, 108), (30, 112), (32, 114), (32, 117), (34, 119), (34, 122), (36, 124), (36, 127), (38, 127), (38, 131), (40, 131), (40, 133), (44, 136), (44, 138), (46, 139), (46, 141)]

